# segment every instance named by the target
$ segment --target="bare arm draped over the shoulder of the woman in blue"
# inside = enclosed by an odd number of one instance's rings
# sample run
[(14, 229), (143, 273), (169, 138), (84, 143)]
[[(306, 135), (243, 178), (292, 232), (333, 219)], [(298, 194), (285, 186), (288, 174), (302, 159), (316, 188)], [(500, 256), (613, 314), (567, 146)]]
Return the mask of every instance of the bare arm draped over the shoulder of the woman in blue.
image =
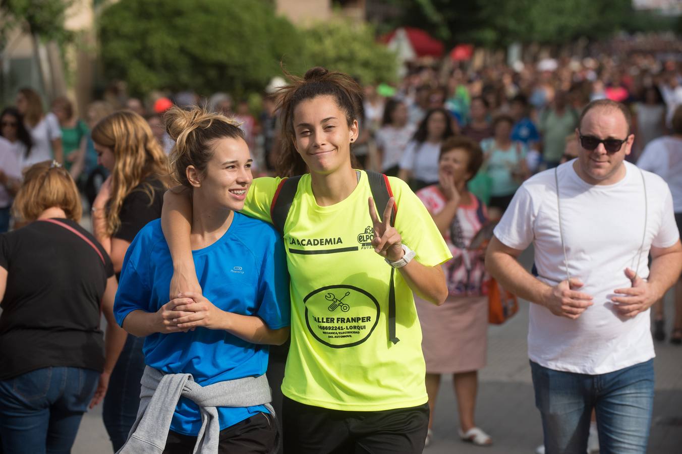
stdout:
[(161, 228), (173, 258), (173, 278), (170, 279), (170, 296), (194, 292), (201, 294), (196, 278), (190, 231), (192, 230), (192, 198), (182, 186), (174, 187), (164, 194), (161, 211)]

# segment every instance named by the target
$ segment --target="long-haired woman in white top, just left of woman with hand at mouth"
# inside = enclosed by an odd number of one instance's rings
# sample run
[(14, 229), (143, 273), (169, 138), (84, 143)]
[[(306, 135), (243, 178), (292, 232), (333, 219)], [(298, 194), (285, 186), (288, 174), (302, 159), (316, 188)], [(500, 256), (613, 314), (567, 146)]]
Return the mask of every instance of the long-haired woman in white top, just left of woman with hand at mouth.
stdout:
[(398, 177), (409, 181), (413, 191), (438, 182), (438, 157), (443, 140), (454, 135), (452, 117), (444, 108), (426, 112), (400, 160)]

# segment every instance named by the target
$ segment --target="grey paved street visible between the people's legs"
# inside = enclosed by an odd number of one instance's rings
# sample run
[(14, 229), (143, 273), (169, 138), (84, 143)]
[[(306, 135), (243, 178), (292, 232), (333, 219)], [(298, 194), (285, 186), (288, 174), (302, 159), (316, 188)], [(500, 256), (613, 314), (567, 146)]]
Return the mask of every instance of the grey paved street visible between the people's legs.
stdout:
[[(522, 256), (528, 264), (529, 252)], [(672, 315), (670, 292), (666, 314)], [(529, 454), (542, 443), (542, 426), (533, 402), (527, 358), (528, 305), (502, 326), (488, 332), (488, 366), (481, 371), (477, 424), (494, 439), (492, 447), (460, 442), (451, 378), (444, 378), (436, 408), (434, 441), (425, 454)], [(670, 326), (668, 325), (668, 331)], [(682, 450), (682, 346), (656, 344), (656, 395), (649, 453), (678, 454)], [(73, 453), (109, 452), (101, 406), (83, 418)]]

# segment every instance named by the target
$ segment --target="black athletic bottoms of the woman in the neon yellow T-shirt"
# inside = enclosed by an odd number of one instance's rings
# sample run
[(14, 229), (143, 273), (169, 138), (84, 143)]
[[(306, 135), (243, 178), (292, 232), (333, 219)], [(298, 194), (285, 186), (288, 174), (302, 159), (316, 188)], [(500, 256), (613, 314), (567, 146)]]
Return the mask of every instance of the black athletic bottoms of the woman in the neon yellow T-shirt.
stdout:
[(421, 454), (428, 404), (375, 412), (329, 410), (284, 396), (285, 454)]

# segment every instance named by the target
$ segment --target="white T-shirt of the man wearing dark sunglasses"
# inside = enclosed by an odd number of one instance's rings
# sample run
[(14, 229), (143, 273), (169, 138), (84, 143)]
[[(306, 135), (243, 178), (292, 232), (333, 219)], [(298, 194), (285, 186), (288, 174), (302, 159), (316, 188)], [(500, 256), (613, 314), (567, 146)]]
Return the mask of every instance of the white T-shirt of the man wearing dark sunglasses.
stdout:
[[(630, 287), (625, 268), (636, 269), (644, 232), (644, 190), (640, 171), (623, 162), (625, 177), (612, 185), (590, 185), (573, 168), (559, 172), (561, 222), (571, 277), (593, 297), (577, 320), (559, 317), (531, 304), (528, 354), (549, 369), (578, 374), (606, 374), (655, 356), (649, 310), (634, 318), (619, 316), (610, 298), (613, 290)], [(643, 172), (647, 189), (647, 232), (639, 254), (638, 275), (649, 276), (651, 246), (670, 247), (679, 232), (672, 211), (672, 196), (665, 181)], [(554, 169), (525, 181), (494, 230), (514, 249), (535, 246), (538, 279), (554, 286), (566, 278), (559, 236)]]

